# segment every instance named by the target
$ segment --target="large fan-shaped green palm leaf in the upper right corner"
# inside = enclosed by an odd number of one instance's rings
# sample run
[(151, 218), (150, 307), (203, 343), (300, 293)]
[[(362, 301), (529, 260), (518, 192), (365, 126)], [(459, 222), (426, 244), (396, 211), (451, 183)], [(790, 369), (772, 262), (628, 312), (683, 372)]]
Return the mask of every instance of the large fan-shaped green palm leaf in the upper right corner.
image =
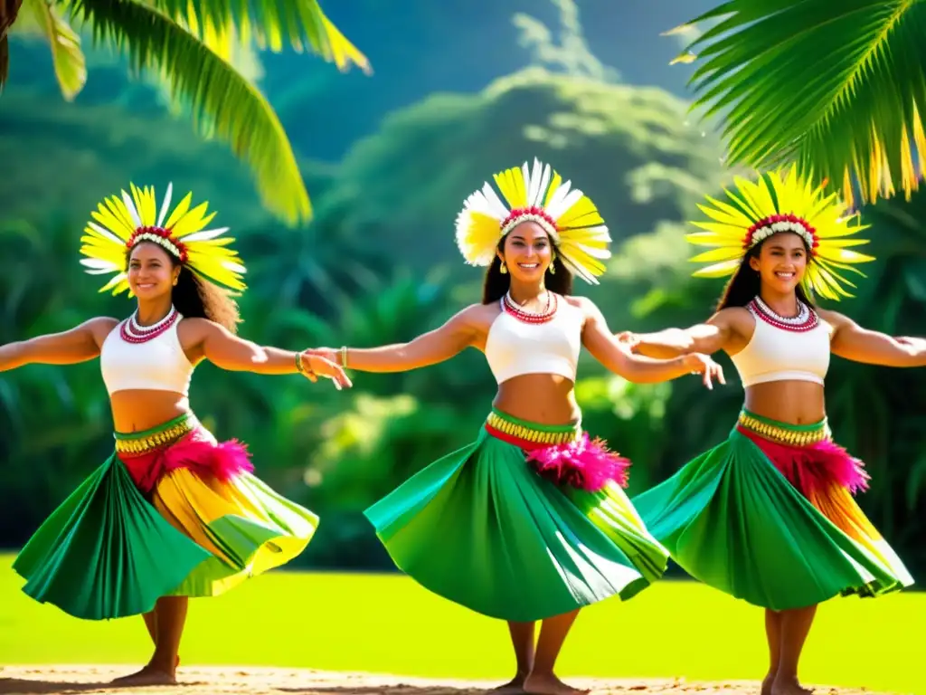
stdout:
[(732, 164), (796, 161), (851, 204), (907, 197), (926, 167), (926, 1), (730, 0), (701, 47), (693, 108), (722, 114)]

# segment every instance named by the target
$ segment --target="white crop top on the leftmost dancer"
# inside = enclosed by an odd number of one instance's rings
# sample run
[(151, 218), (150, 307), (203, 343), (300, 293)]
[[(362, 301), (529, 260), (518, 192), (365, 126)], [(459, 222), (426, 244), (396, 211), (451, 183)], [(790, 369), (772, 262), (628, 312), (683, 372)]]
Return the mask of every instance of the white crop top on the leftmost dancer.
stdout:
[(194, 365), (183, 352), (177, 335), (182, 318), (178, 316), (166, 331), (144, 343), (123, 339), (122, 326), (129, 319), (106, 335), (100, 350), (100, 371), (110, 395), (130, 389), (190, 395)]

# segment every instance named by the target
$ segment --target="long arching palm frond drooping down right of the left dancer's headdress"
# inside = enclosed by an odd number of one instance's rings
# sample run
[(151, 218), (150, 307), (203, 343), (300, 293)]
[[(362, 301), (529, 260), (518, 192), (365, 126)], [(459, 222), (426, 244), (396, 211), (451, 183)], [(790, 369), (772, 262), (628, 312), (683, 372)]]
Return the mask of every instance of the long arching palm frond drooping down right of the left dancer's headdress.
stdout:
[(267, 100), (206, 44), (142, 0), (74, 0), (73, 12), (94, 41), (119, 48), (132, 69), (169, 76), (174, 98), (188, 103), (207, 128), (244, 158), (264, 204), (291, 224), (311, 215), (293, 148)]

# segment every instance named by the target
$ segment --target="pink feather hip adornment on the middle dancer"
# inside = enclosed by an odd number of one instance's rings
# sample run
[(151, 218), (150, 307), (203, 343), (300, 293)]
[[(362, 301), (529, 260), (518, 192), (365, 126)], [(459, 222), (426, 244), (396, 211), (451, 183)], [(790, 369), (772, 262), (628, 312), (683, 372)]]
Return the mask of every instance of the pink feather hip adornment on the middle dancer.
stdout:
[(521, 446), (537, 473), (557, 485), (595, 492), (612, 481), (621, 487), (629, 482), (631, 461), (585, 432), (568, 444)]

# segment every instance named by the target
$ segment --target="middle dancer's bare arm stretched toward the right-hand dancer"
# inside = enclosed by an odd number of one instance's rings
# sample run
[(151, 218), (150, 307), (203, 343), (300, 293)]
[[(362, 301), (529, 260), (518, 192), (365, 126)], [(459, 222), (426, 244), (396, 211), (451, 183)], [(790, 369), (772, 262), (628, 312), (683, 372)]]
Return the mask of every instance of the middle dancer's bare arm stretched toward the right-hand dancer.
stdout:
[(593, 302), (582, 299), (582, 308), (585, 311), (583, 345), (595, 360), (628, 381), (654, 384), (677, 379), (685, 374), (699, 373), (707, 388), (714, 387), (714, 379), (720, 384), (726, 384), (720, 364), (707, 355), (692, 352), (669, 360), (634, 355), (629, 347), (621, 344), (611, 333), (605, 317)]

